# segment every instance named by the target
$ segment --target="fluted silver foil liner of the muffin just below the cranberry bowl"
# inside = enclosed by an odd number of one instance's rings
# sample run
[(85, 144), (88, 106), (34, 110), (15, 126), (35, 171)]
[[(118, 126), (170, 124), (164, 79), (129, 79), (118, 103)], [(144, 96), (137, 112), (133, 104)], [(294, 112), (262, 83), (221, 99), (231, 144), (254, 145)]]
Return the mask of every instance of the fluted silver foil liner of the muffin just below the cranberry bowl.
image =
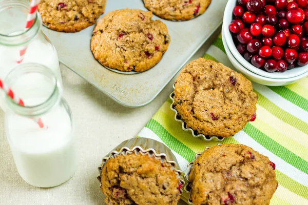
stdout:
[[(173, 86), (175, 88), (175, 86)], [(176, 121), (179, 121), (182, 123), (182, 129), (184, 131), (188, 131), (188, 132), (191, 132), (192, 136), (193, 137), (196, 137), (196, 138), (203, 138), (204, 140), (206, 141), (211, 141), (211, 140), (214, 140), (214, 141), (222, 141), (224, 139), (224, 137), (218, 137), (218, 136), (209, 136), (209, 135), (204, 135), (204, 134), (200, 134), (198, 131), (196, 130), (192, 130), (191, 128), (187, 128), (186, 126), (186, 123), (182, 120), (181, 118), (181, 115), (178, 113), (178, 111), (176, 110), (176, 105), (175, 105), (175, 100), (174, 100), (174, 96), (175, 96), (175, 92), (172, 92), (170, 94), (170, 99), (172, 100), (172, 103), (171, 103), (171, 110), (173, 110), (175, 112), (175, 120)]]

